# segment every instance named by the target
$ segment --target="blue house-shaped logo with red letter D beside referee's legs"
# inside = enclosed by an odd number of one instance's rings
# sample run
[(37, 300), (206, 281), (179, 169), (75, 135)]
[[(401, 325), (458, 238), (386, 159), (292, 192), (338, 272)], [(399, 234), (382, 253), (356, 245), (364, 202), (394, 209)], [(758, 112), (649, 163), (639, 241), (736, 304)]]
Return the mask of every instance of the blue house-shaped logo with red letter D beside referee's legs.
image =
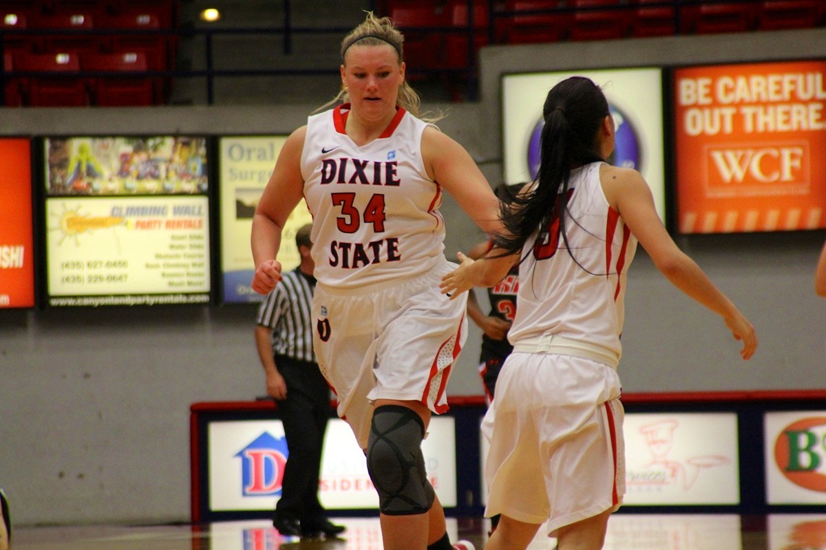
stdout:
[(276, 439), (268, 432), (235, 454), (241, 459), (242, 494), (280, 496), (287, 455), (287, 440)]

